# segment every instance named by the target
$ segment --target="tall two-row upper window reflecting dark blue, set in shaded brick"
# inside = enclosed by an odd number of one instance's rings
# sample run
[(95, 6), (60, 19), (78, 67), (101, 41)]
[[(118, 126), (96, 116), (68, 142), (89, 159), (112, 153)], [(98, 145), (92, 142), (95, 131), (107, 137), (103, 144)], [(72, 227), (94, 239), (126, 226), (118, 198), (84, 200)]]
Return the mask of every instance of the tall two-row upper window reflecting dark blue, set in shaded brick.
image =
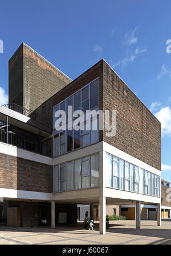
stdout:
[[(76, 110), (82, 110), (84, 122), (79, 123), (78, 126), (81, 128), (76, 130), (75, 127), (72, 129), (73, 123), (78, 117), (73, 117), (68, 120), (68, 106), (72, 106), (72, 113)], [(99, 79), (89, 83), (84, 86), (82, 89), (72, 94), (70, 97), (66, 98), (64, 101), (60, 102), (58, 105), (54, 106), (54, 157), (57, 157), (60, 154), (64, 154), (68, 151), (79, 149), (80, 147), (88, 146), (92, 143), (99, 141), (99, 118), (98, 116), (92, 120), (90, 130), (86, 130), (86, 110), (96, 110), (98, 111), (99, 106)], [(66, 129), (56, 130), (55, 122), (59, 117), (55, 116), (57, 110), (66, 111)], [(62, 114), (63, 115), (63, 114)], [(79, 119), (78, 119), (79, 120)], [(93, 128), (93, 122), (97, 123), (97, 129)], [(61, 124), (60, 124), (61, 125)], [(60, 127), (59, 125), (59, 127)], [(84, 127), (84, 130), (82, 128)]]

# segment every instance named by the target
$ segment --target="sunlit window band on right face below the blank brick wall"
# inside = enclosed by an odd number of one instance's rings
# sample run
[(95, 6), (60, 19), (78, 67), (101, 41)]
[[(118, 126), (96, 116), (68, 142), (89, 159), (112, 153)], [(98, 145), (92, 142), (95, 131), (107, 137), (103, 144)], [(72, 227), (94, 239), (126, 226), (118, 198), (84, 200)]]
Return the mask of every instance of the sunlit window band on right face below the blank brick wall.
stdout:
[(160, 176), (106, 153), (105, 185), (160, 197)]

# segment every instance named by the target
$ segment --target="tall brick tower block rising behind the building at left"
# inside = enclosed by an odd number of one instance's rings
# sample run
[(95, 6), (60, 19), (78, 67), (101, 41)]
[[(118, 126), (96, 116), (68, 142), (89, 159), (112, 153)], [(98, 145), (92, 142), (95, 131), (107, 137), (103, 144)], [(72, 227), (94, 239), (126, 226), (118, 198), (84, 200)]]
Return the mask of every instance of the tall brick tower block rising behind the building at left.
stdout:
[(71, 79), (25, 43), (9, 61), (9, 103), (35, 110)]

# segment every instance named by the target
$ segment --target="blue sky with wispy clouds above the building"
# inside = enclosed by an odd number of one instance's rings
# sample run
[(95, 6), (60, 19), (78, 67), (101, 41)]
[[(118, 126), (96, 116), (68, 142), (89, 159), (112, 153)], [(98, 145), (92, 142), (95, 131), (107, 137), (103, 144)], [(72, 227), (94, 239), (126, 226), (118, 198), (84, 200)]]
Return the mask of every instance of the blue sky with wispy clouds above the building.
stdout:
[(104, 58), (161, 121), (162, 178), (171, 182), (170, 9), (170, 0), (1, 1), (0, 104), (22, 42), (72, 79)]

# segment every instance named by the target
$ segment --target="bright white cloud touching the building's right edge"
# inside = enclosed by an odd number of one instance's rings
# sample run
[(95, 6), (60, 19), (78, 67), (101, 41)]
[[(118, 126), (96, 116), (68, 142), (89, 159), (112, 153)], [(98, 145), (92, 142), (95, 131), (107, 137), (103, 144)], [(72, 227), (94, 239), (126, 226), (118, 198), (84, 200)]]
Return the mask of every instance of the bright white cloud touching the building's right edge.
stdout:
[(171, 137), (171, 109), (169, 106), (162, 107), (154, 113), (156, 118), (161, 122), (161, 135)]

